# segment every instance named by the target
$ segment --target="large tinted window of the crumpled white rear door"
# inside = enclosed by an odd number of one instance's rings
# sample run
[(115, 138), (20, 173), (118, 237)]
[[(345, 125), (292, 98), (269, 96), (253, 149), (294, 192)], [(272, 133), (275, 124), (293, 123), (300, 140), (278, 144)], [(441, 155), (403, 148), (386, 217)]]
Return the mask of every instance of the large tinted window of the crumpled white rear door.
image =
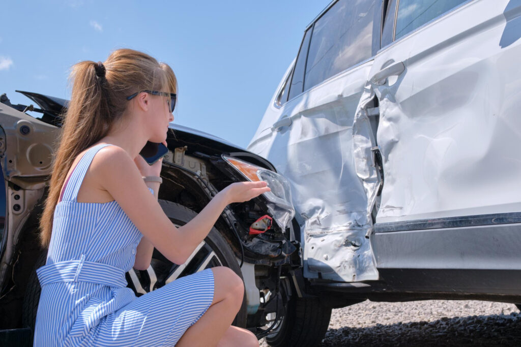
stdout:
[(340, 0), (315, 23), (304, 90), (371, 57), (376, 0)]

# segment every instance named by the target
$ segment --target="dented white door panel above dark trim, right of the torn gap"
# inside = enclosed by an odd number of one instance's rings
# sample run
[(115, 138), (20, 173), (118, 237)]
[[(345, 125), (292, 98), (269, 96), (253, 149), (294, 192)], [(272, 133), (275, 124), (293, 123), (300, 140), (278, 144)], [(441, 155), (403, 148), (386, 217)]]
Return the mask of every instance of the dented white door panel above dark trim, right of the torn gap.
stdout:
[(371, 81), (385, 175), (377, 223), (521, 211), (521, 45), (502, 45), (521, 9), (512, 3), (469, 2), (375, 57), (371, 76), (405, 67)]

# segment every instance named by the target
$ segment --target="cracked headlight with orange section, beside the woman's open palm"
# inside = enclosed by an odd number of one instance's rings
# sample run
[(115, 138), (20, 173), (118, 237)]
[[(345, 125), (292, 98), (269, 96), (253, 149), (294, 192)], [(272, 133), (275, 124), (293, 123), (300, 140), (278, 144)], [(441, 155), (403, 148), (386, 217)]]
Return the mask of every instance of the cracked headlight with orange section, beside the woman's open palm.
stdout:
[(269, 213), (282, 230), (285, 230), (295, 216), (288, 179), (276, 172), (237, 158), (222, 155), (222, 159), (249, 181), (266, 181), (268, 183), (271, 191), (267, 191), (263, 195), (268, 200)]

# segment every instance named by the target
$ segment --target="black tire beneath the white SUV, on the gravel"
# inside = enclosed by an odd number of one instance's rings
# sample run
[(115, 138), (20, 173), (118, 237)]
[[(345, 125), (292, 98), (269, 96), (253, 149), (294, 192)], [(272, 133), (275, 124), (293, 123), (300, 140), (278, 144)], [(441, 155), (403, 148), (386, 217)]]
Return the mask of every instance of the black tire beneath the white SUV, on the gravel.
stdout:
[(330, 307), (322, 305), (318, 298), (299, 298), (293, 291), (280, 328), (266, 336), (266, 342), (272, 347), (319, 345), (330, 319)]

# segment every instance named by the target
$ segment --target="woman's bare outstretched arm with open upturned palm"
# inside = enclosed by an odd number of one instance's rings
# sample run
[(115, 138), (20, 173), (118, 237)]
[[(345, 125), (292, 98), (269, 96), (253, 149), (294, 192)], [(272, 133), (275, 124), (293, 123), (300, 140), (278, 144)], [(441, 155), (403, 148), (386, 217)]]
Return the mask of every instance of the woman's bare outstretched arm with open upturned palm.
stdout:
[(177, 228), (157, 198), (150, 194), (142, 173), (125, 150), (106, 146), (98, 153), (91, 163), (98, 182), (118, 202), (143, 236), (176, 264), (183, 264), (188, 259), (208, 235), (227, 204), (247, 201), (270, 190), (263, 181), (232, 183), (221, 190), (192, 221)]

